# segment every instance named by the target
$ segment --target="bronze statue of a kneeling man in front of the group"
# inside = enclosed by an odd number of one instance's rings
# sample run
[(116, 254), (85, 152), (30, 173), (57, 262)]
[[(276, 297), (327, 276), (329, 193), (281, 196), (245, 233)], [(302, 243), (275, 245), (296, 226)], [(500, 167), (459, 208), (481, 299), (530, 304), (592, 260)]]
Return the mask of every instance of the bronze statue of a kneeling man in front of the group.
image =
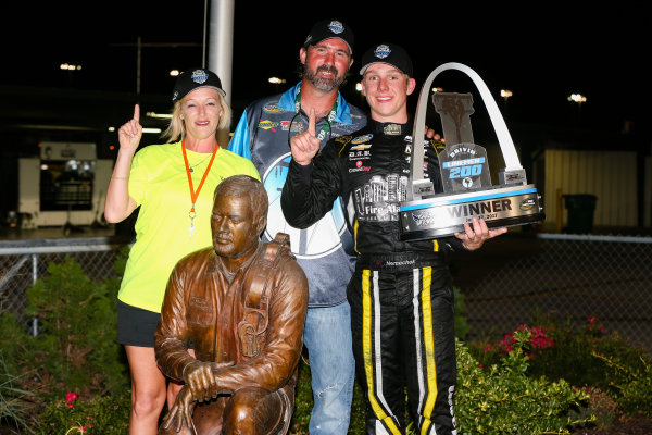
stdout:
[[(215, 189), (213, 248), (180, 260), (155, 333), (156, 363), (184, 381), (160, 434), (285, 434), (294, 401), (308, 281), (247, 175)], [(188, 352), (192, 344), (197, 359)]]

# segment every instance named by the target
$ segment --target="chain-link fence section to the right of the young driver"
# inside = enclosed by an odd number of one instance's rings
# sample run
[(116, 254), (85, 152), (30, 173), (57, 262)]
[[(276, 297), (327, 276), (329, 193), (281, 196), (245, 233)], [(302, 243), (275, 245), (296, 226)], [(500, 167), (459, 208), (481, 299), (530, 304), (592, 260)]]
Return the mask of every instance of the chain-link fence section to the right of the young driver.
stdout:
[(652, 350), (652, 238), (507, 234), (454, 257), (468, 339), (512, 333), (554, 316), (574, 326), (594, 316)]

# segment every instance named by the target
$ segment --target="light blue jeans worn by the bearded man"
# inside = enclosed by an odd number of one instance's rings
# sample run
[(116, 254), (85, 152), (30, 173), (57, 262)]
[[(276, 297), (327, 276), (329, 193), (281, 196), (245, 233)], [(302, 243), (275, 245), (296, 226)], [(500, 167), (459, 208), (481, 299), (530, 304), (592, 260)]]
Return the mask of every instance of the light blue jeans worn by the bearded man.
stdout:
[(349, 430), (355, 361), (351, 347), (351, 308), (309, 308), (303, 328), (315, 405), (311, 435), (346, 435)]

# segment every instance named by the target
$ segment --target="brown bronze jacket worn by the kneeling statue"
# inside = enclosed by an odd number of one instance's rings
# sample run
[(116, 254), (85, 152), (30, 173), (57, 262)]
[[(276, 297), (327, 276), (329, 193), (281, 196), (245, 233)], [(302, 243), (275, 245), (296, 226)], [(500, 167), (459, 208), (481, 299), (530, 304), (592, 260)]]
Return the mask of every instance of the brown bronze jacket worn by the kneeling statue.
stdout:
[[(230, 282), (230, 273), (213, 248), (179, 261), (170, 277), (155, 333), (156, 362), (164, 374), (183, 381), (184, 369), (195, 361), (186, 351), (191, 341), (197, 360), (234, 362), (214, 370), (220, 393), (283, 388), (294, 397), (308, 281), (291, 253), (281, 250), (275, 265), (268, 268), (260, 303), (252, 306), (249, 287), (261, 281), (256, 275), (261, 275), (267, 245), (260, 243)], [(247, 333), (255, 330), (264, 332), (258, 336)]]

